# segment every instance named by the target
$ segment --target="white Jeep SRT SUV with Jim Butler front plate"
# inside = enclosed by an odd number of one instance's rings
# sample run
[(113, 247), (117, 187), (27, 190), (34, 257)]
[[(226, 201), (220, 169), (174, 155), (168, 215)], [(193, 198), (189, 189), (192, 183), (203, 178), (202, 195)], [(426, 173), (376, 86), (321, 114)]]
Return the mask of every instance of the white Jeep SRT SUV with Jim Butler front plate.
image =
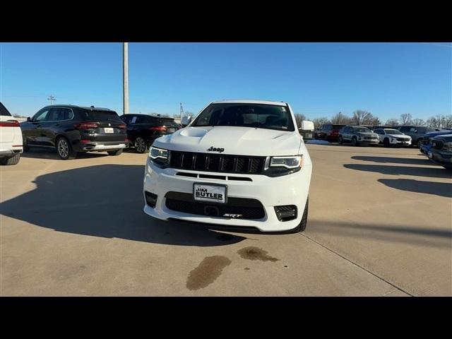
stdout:
[[(285, 102), (211, 102), (155, 139), (143, 179), (144, 212), (169, 220), (302, 232), (311, 158)], [(302, 129), (314, 131), (312, 121)]]

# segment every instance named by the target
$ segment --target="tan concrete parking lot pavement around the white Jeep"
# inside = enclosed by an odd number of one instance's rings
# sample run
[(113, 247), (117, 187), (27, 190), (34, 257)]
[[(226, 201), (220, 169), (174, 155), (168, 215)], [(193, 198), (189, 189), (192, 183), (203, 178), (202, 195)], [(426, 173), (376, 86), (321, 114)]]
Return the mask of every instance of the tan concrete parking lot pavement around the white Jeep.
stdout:
[(452, 295), (452, 172), (415, 148), (308, 145), (302, 234), (143, 213), (147, 155), (1, 167), (2, 296)]

